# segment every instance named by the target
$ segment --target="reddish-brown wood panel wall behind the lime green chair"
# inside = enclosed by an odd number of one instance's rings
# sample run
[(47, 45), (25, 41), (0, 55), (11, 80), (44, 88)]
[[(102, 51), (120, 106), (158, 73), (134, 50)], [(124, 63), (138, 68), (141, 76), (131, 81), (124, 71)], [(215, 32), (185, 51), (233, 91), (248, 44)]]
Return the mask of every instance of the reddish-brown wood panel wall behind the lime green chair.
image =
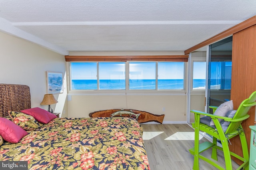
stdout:
[[(256, 25), (233, 34), (232, 45), (232, 84), (231, 100), (234, 109), (256, 91)], [(250, 125), (254, 125), (255, 107), (249, 111), (250, 117), (243, 121), (242, 127), (246, 133), (247, 144), (250, 150)], [(230, 140), (230, 150), (242, 156), (239, 137)], [(234, 158), (240, 164), (238, 160)]]

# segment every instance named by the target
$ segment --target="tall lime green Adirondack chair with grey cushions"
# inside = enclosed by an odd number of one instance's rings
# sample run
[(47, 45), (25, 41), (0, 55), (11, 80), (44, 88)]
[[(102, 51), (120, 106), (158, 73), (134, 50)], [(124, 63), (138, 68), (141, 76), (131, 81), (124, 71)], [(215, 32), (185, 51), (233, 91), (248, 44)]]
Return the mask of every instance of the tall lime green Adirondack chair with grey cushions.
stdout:
[[(192, 126), (195, 129), (195, 142), (194, 142), (194, 147), (189, 149), (189, 151), (192, 155), (194, 155), (194, 165), (193, 165), (194, 170), (199, 170), (199, 158), (208, 162), (209, 164), (212, 164), (213, 166), (215, 166), (220, 170), (232, 170), (231, 155), (242, 160), (242, 162), (244, 162), (237, 170), (242, 170), (242, 169), (248, 170), (249, 152), (248, 152), (246, 137), (244, 135), (244, 130), (242, 128), (241, 123), (243, 120), (249, 117), (248, 111), (252, 106), (256, 105), (255, 100), (256, 100), (256, 91), (253, 92), (248, 99), (244, 100), (240, 104), (233, 118), (222, 117), (222, 116), (218, 116), (210, 113), (191, 110), (191, 112), (195, 114), (195, 123), (192, 123)], [(215, 111), (217, 107), (211, 107), (211, 108), (213, 108), (213, 110)], [(209, 116), (207, 118), (211, 118), (213, 120), (215, 127), (206, 125), (204, 123), (200, 123), (201, 115)], [(224, 131), (222, 128), (222, 125), (220, 123), (221, 119), (224, 119), (224, 121), (230, 122), (226, 131)], [(213, 138), (212, 143), (204, 142), (199, 144), (199, 131), (203, 131), (211, 135)], [(242, 144), (243, 157), (239, 156), (238, 154), (235, 154), (234, 152), (231, 152), (228, 147), (229, 139), (237, 135), (239, 135), (240, 141)], [(217, 139), (221, 142), (222, 147), (217, 146)], [(200, 154), (210, 148), (212, 148), (211, 158), (206, 158), (205, 156), (202, 156)], [(218, 164), (217, 149), (223, 151), (226, 167), (222, 167)]]

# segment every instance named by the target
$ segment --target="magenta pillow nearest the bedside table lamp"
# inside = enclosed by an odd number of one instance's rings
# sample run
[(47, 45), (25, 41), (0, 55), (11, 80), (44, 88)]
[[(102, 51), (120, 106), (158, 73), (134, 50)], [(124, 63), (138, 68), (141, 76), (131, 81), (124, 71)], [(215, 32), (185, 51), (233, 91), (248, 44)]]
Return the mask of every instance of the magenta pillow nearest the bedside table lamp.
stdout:
[(39, 107), (22, 110), (20, 112), (33, 116), (37, 121), (41, 123), (49, 123), (52, 119), (55, 119), (57, 117), (56, 115), (50, 113), (49, 111), (46, 111)]

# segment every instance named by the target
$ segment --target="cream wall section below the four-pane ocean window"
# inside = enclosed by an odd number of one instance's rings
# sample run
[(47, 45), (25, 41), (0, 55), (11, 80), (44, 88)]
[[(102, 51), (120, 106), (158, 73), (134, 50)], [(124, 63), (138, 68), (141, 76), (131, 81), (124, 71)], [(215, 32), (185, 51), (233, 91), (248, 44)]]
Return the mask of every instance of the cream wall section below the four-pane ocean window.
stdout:
[(68, 101), (68, 116), (89, 117), (89, 113), (105, 109), (136, 109), (164, 114), (165, 123), (184, 123), (187, 119), (186, 100), (185, 95), (73, 95)]

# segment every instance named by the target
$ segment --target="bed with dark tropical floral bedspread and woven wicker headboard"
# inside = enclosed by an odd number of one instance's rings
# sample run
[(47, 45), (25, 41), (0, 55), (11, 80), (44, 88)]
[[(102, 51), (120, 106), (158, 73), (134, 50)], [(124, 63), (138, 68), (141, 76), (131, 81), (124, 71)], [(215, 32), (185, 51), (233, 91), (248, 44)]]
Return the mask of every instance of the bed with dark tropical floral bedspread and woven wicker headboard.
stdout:
[[(4, 121), (10, 113), (24, 114), (21, 111), (30, 107), (28, 86), (0, 84)], [(134, 118), (54, 118), (36, 123), (37, 129), (24, 128), (27, 135), (17, 143), (0, 146), (0, 161), (27, 161), (29, 170), (150, 170), (142, 127)]]

